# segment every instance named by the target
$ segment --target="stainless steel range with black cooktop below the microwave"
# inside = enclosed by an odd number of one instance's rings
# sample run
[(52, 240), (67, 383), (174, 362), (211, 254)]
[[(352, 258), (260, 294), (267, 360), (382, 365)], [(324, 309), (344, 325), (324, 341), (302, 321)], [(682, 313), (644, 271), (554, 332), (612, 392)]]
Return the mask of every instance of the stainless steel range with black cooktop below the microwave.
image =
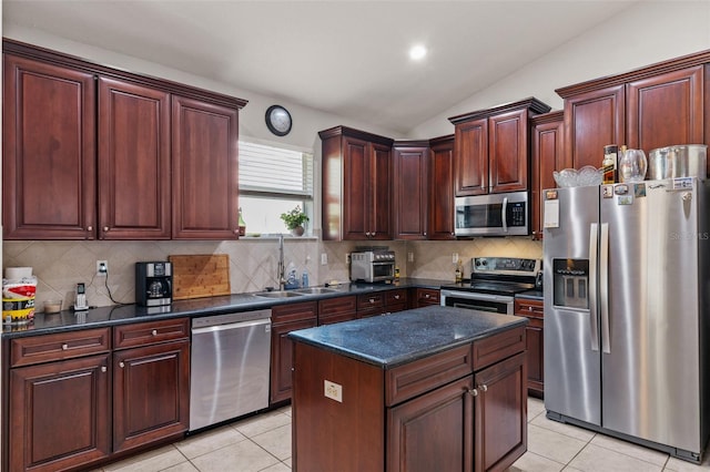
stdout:
[(513, 315), (515, 295), (535, 289), (541, 259), (475, 257), (470, 280), (442, 287), (442, 306)]

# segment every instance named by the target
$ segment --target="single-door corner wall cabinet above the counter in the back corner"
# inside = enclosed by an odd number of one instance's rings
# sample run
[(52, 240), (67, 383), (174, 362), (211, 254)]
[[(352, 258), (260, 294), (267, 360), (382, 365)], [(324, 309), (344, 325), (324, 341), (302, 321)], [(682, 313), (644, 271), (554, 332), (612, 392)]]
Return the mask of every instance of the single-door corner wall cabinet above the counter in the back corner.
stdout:
[(426, 239), (428, 220), (428, 141), (394, 144), (395, 239)]

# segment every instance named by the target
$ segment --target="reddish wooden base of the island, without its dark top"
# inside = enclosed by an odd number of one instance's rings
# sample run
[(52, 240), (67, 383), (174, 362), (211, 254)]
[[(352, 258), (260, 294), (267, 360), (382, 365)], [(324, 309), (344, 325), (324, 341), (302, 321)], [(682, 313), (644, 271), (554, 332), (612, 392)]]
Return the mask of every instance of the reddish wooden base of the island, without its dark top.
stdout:
[(527, 450), (523, 327), (392, 369), (304, 342), (294, 361), (294, 471), (504, 471)]

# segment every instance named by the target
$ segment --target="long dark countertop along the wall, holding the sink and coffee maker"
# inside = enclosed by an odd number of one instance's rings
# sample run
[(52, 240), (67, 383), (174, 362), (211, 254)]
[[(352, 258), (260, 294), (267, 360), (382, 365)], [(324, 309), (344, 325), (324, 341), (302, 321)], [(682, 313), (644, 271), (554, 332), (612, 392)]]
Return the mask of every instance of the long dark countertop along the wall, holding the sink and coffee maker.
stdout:
[(288, 298), (264, 298), (250, 294), (234, 294), (221, 297), (196, 298), (192, 300), (173, 301), (168, 307), (140, 307), (138, 305), (114, 305), (92, 308), (87, 311), (61, 311), (55, 315), (34, 315), (34, 320), (27, 325), (2, 324), (2, 339), (47, 335), (79, 329), (100, 328), (130, 322), (152, 321), (180, 317), (201, 317), (241, 312), (271, 308), (278, 305), (298, 301), (317, 300), (342, 297), (344, 295), (359, 295), (373, 291), (394, 290), (397, 288), (439, 288), (448, 284), (447, 280), (403, 278), (396, 284), (341, 284), (332, 286), (336, 291), (318, 295), (302, 295)]

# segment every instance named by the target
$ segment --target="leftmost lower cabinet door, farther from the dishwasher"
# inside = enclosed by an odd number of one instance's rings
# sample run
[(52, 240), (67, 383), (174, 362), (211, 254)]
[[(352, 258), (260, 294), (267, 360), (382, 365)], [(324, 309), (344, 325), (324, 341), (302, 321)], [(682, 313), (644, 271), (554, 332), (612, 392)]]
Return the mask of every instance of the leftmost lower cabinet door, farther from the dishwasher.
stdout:
[(109, 355), (10, 371), (10, 471), (53, 472), (111, 453)]

